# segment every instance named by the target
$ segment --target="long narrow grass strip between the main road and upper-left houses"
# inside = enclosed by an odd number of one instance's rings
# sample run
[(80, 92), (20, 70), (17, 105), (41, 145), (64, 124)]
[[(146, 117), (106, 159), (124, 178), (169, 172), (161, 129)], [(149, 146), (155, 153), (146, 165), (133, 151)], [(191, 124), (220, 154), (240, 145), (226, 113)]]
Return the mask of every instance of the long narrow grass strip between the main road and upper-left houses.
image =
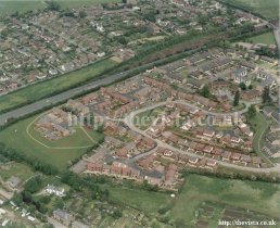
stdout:
[(88, 67), (25, 87), (7, 96), (1, 96), (0, 112), (4, 112), (28, 102), (39, 100), (41, 98), (51, 96), (54, 92), (66, 90), (82, 81), (93, 79), (94, 77), (102, 74), (102, 72), (113, 68), (116, 65), (117, 63), (110, 59), (102, 60)]

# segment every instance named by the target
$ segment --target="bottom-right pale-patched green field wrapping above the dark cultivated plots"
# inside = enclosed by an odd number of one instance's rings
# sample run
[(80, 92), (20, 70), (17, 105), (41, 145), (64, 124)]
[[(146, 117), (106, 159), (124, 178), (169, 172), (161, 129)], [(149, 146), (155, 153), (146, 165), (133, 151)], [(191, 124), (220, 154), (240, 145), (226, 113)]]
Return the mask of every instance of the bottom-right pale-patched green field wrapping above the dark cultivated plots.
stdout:
[(266, 182), (188, 175), (170, 215), (174, 219), (191, 225), (195, 211), (205, 201), (250, 208), (268, 216), (279, 216), (280, 187)]

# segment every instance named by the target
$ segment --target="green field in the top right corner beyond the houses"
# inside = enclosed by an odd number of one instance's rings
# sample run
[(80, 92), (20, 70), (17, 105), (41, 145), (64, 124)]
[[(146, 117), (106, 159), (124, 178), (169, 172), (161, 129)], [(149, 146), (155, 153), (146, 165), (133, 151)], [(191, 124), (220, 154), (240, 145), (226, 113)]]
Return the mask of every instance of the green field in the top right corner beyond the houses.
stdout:
[(279, 0), (224, 0), (234, 7), (257, 13), (266, 18), (279, 18)]

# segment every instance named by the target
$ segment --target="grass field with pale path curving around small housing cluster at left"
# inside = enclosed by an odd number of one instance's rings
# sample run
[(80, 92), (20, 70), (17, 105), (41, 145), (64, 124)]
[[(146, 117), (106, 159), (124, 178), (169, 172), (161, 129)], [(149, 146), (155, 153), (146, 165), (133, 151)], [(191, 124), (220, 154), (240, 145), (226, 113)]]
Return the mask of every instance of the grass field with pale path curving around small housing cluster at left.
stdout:
[[(47, 144), (48, 148), (46, 148), (38, 143), (38, 141), (31, 139), (26, 131), (28, 125), (36, 117), (30, 117), (21, 121), (0, 131), (0, 142), (3, 142), (7, 147), (13, 148), (27, 156), (36, 157), (43, 163), (53, 165), (59, 169), (66, 168), (69, 161), (79, 157), (87, 151), (89, 145), (93, 145), (93, 142), (81, 129), (78, 129), (78, 134), (58, 140), (56, 142), (50, 142), (30, 128), (29, 131), (31, 136), (36, 137), (36, 139), (43, 144)], [(102, 137), (100, 134), (91, 131), (88, 131), (88, 135), (94, 139)]]

